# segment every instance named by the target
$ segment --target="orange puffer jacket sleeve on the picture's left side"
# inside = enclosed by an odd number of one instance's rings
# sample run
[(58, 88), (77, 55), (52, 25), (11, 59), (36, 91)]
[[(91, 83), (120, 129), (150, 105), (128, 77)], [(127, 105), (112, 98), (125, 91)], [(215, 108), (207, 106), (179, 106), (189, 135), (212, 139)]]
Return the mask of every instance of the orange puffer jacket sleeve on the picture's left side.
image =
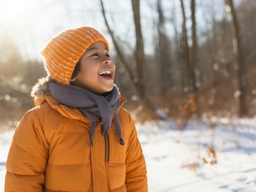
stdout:
[(47, 142), (34, 110), (16, 127), (7, 157), (4, 192), (43, 192)]

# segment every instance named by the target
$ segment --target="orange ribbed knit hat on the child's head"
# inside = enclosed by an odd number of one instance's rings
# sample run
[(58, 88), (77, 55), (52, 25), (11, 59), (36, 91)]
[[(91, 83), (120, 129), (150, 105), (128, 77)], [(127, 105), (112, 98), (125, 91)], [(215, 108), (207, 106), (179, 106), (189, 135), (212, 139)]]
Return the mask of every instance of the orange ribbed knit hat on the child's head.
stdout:
[(93, 27), (80, 26), (61, 31), (41, 51), (49, 78), (61, 84), (70, 84), (76, 63), (94, 42), (102, 41), (109, 51), (108, 41)]

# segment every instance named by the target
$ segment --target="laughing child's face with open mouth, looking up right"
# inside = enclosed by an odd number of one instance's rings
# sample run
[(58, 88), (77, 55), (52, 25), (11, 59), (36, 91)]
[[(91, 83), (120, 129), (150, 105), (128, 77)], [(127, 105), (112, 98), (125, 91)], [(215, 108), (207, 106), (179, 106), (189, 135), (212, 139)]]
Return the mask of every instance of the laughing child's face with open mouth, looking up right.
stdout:
[(80, 58), (80, 71), (71, 79), (72, 84), (96, 95), (111, 91), (114, 86), (115, 63), (109, 56), (105, 43), (97, 41), (91, 44)]

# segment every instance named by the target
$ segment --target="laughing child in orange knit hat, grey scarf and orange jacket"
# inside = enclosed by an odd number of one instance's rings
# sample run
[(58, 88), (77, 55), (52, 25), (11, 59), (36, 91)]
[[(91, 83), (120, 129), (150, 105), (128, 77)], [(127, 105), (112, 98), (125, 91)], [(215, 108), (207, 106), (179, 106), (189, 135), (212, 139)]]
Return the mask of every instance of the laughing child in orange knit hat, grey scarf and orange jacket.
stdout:
[(103, 35), (67, 29), (41, 52), (47, 77), (31, 96), (7, 158), (5, 192), (147, 192), (146, 163)]

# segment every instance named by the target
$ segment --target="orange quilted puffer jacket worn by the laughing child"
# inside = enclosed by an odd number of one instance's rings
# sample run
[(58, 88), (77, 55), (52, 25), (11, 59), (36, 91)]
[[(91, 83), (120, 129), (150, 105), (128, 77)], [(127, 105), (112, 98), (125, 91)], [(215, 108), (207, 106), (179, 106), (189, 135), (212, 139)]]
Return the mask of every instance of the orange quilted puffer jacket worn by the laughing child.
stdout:
[(118, 111), (124, 146), (112, 121), (106, 137), (98, 124), (90, 147), (91, 121), (77, 108), (63, 106), (52, 96), (35, 104), (13, 135), (5, 192), (148, 191), (141, 145), (125, 109)]

